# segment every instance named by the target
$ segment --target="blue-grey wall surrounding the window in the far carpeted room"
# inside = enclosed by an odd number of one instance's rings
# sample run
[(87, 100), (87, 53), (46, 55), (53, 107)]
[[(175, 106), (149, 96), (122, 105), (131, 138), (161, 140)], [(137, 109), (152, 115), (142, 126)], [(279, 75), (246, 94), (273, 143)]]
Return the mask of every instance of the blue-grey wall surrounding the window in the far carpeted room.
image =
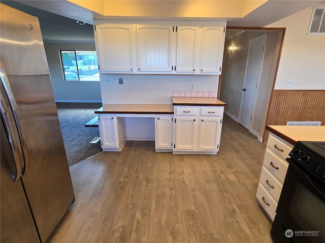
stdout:
[(94, 43), (45, 43), (56, 102), (102, 102), (100, 82), (64, 80), (59, 50), (95, 50)]

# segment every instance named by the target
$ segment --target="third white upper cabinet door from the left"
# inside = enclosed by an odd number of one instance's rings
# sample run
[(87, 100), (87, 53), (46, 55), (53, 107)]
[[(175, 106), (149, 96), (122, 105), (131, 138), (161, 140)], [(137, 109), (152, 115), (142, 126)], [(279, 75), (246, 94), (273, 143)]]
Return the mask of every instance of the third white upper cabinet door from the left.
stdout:
[(198, 26), (177, 26), (176, 72), (194, 73), (197, 65)]

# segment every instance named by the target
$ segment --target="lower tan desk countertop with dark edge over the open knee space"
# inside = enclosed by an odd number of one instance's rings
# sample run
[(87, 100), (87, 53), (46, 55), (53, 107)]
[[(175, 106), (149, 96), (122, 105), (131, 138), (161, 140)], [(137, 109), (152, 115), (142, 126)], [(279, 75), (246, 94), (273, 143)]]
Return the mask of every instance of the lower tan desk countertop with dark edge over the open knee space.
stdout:
[(174, 114), (173, 105), (106, 104), (95, 111), (99, 114)]

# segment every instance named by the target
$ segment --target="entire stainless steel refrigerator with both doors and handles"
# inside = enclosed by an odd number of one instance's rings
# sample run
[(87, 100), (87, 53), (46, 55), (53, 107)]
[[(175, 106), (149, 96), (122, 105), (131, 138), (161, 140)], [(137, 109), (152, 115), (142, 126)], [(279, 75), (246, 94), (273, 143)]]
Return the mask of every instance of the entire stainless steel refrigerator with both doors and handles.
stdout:
[(38, 18), (0, 5), (1, 242), (44, 242), (75, 195)]

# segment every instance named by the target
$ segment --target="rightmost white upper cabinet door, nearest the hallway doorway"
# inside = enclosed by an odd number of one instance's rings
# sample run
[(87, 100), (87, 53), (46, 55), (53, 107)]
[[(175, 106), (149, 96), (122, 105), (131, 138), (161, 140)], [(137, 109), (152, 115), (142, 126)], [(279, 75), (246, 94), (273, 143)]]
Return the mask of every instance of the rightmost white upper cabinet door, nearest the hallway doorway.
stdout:
[(224, 32), (224, 26), (203, 26), (201, 73), (221, 74)]

